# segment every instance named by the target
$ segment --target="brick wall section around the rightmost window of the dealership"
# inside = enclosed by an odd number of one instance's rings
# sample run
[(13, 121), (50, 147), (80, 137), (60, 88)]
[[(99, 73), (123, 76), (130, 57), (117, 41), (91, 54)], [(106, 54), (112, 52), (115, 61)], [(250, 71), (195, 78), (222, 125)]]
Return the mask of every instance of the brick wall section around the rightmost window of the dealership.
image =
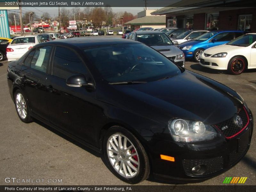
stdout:
[(239, 15), (252, 14), (252, 32), (256, 32), (256, 8), (220, 11), (219, 29), (237, 30)]

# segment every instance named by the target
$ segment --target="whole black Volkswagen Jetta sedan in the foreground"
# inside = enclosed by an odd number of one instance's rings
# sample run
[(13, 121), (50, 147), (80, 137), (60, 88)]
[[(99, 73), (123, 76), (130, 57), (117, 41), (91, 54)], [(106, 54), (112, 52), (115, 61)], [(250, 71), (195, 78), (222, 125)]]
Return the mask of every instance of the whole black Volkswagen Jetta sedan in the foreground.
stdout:
[(77, 37), (9, 63), (11, 97), (33, 118), (103, 153), (119, 179), (197, 182), (246, 154), (253, 120), (241, 96), (140, 42)]

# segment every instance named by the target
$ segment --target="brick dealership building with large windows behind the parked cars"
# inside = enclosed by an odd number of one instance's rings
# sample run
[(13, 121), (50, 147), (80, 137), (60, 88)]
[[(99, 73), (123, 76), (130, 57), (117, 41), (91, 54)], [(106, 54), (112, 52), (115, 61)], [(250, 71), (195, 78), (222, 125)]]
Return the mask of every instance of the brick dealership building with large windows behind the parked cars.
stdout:
[(181, 0), (151, 15), (166, 15), (166, 27), (255, 33), (255, 6), (255, 0)]

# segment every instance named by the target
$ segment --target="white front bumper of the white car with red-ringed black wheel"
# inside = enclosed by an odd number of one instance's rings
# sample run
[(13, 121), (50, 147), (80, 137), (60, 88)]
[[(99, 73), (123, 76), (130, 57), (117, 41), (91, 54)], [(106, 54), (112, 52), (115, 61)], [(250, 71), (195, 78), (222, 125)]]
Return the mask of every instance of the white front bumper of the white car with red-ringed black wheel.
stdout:
[(204, 67), (212, 68), (212, 69), (219, 69), (219, 70), (227, 70), (228, 62), (230, 58), (223, 57), (223, 58), (214, 58), (214, 57), (205, 57), (204, 53), (200, 55), (200, 62), (199, 64)]

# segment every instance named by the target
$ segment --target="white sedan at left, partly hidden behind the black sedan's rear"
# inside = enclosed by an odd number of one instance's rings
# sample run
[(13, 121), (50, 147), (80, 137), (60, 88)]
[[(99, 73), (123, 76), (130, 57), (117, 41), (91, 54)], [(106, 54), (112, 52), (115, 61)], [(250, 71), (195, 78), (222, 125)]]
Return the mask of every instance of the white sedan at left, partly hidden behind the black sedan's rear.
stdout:
[(29, 49), (43, 42), (44, 40), (37, 35), (15, 37), (6, 48), (8, 61), (20, 59)]

